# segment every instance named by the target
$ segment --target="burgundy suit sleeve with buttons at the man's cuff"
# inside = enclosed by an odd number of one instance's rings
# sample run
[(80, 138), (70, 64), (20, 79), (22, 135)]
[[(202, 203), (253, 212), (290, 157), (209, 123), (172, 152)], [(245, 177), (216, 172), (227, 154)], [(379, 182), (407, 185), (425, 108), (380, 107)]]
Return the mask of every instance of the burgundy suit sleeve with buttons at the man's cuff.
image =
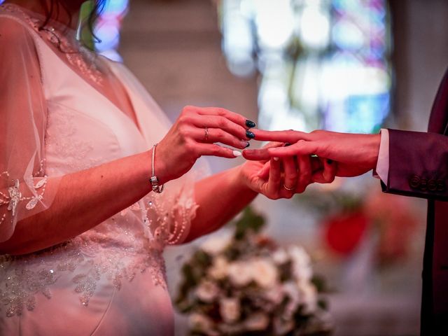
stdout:
[(385, 193), (448, 201), (448, 137), (388, 130), (389, 165)]

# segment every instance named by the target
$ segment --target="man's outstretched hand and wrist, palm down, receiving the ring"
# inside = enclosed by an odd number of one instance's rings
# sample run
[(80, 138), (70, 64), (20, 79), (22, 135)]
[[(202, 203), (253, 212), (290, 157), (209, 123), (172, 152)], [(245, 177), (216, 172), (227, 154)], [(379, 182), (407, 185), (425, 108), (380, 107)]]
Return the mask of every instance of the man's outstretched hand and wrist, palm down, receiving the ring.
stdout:
[(377, 165), (379, 134), (349, 134), (329, 131), (311, 133), (298, 131), (253, 130), (260, 141), (288, 142), (291, 146), (244, 150), (247, 160), (287, 158), (294, 155), (318, 155), (337, 162), (336, 176), (358, 176)]

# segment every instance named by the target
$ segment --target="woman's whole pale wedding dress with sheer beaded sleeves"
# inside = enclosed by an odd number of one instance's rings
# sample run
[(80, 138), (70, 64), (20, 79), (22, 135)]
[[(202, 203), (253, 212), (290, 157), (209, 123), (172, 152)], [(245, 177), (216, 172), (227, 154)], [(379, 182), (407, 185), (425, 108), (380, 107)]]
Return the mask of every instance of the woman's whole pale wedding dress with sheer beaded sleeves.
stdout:
[[(125, 66), (64, 50), (73, 31), (42, 22), (0, 6), (0, 241), (52, 206), (60, 176), (146, 151), (169, 129)], [(0, 255), (0, 335), (173, 335), (162, 251), (188, 235), (193, 180), (59, 246)]]

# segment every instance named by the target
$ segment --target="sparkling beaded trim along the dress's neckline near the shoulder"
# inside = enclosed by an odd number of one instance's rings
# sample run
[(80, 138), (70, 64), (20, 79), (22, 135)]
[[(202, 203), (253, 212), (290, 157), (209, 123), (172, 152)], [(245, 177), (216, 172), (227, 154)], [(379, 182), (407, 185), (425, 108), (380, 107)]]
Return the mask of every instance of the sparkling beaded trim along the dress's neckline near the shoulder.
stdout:
[(1, 10), (7, 13), (17, 13), (22, 20), (27, 22), (41, 38), (52, 43), (55, 47), (64, 53), (67, 61), (77, 67), (80, 73), (90, 78), (94, 83), (102, 85), (102, 73), (97, 69), (96, 54), (91, 50), (83, 47), (75, 38), (69, 40), (65, 34), (57, 30), (55, 27), (46, 25), (42, 27), (43, 22), (38, 18), (30, 18), (20, 7), (13, 4), (5, 4), (0, 6)]

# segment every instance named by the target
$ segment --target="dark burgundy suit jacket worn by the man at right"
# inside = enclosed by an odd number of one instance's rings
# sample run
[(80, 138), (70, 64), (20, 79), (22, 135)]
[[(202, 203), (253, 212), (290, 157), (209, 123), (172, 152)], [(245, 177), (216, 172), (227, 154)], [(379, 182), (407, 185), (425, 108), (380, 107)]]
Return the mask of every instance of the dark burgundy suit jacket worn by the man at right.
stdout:
[(428, 199), (423, 256), (421, 335), (448, 335), (448, 71), (428, 132), (389, 130), (384, 192)]

